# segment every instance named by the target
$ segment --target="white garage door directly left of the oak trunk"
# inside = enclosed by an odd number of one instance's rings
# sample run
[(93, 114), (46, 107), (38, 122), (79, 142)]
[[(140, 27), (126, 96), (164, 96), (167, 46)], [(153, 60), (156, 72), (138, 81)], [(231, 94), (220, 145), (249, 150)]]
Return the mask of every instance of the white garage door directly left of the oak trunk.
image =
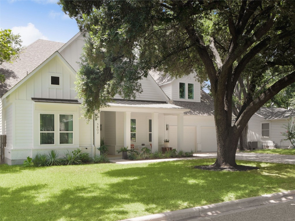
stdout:
[(217, 151), (215, 127), (201, 127), (202, 152)]

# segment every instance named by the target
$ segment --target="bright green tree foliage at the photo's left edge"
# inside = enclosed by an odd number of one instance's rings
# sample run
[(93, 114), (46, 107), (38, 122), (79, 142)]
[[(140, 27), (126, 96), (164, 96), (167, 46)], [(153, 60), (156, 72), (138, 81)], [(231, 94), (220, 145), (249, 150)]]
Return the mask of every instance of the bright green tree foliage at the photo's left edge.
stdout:
[[(13, 34), (10, 29), (0, 29), (0, 65), (17, 59), (21, 49), (22, 40), (19, 34)], [(0, 73), (0, 82), (4, 80), (4, 75)]]

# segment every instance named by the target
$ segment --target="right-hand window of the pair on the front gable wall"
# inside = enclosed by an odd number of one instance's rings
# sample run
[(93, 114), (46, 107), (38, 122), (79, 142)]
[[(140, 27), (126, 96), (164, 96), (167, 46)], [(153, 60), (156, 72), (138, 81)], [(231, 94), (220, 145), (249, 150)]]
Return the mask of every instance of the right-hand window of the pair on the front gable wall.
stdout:
[(73, 144), (73, 114), (59, 115), (59, 143)]

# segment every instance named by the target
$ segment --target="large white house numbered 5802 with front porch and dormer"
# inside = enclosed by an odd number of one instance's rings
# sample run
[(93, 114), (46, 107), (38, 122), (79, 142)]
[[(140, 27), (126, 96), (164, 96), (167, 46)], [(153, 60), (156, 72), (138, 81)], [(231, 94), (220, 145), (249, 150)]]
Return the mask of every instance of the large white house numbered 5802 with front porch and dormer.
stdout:
[[(81, 100), (73, 89), (84, 39), (76, 34), (66, 44), (37, 40), (19, 59), (1, 65), (0, 134), (6, 134), (5, 163), (20, 164), (27, 156), (56, 149), (62, 156), (80, 148), (99, 154), (101, 138), (109, 154), (130, 144), (152, 144), (159, 151), (164, 139), (185, 151), (216, 151), (213, 99), (190, 74), (163, 79), (156, 72), (140, 81), (135, 100), (119, 95), (102, 108), (98, 120), (86, 123)], [(132, 130), (131, 130), (132, 126)]]

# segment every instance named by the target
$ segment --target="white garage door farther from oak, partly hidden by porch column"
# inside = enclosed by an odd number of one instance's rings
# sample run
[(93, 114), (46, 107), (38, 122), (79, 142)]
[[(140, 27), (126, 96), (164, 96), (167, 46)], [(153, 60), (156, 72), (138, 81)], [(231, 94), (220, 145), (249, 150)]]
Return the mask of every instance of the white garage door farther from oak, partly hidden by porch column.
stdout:
[[(177, 126), (169, 127), (169, 147), (177, 149)], [(183, 127), (183, 151), (196, 151), (196, 127), (184, 126)]]

